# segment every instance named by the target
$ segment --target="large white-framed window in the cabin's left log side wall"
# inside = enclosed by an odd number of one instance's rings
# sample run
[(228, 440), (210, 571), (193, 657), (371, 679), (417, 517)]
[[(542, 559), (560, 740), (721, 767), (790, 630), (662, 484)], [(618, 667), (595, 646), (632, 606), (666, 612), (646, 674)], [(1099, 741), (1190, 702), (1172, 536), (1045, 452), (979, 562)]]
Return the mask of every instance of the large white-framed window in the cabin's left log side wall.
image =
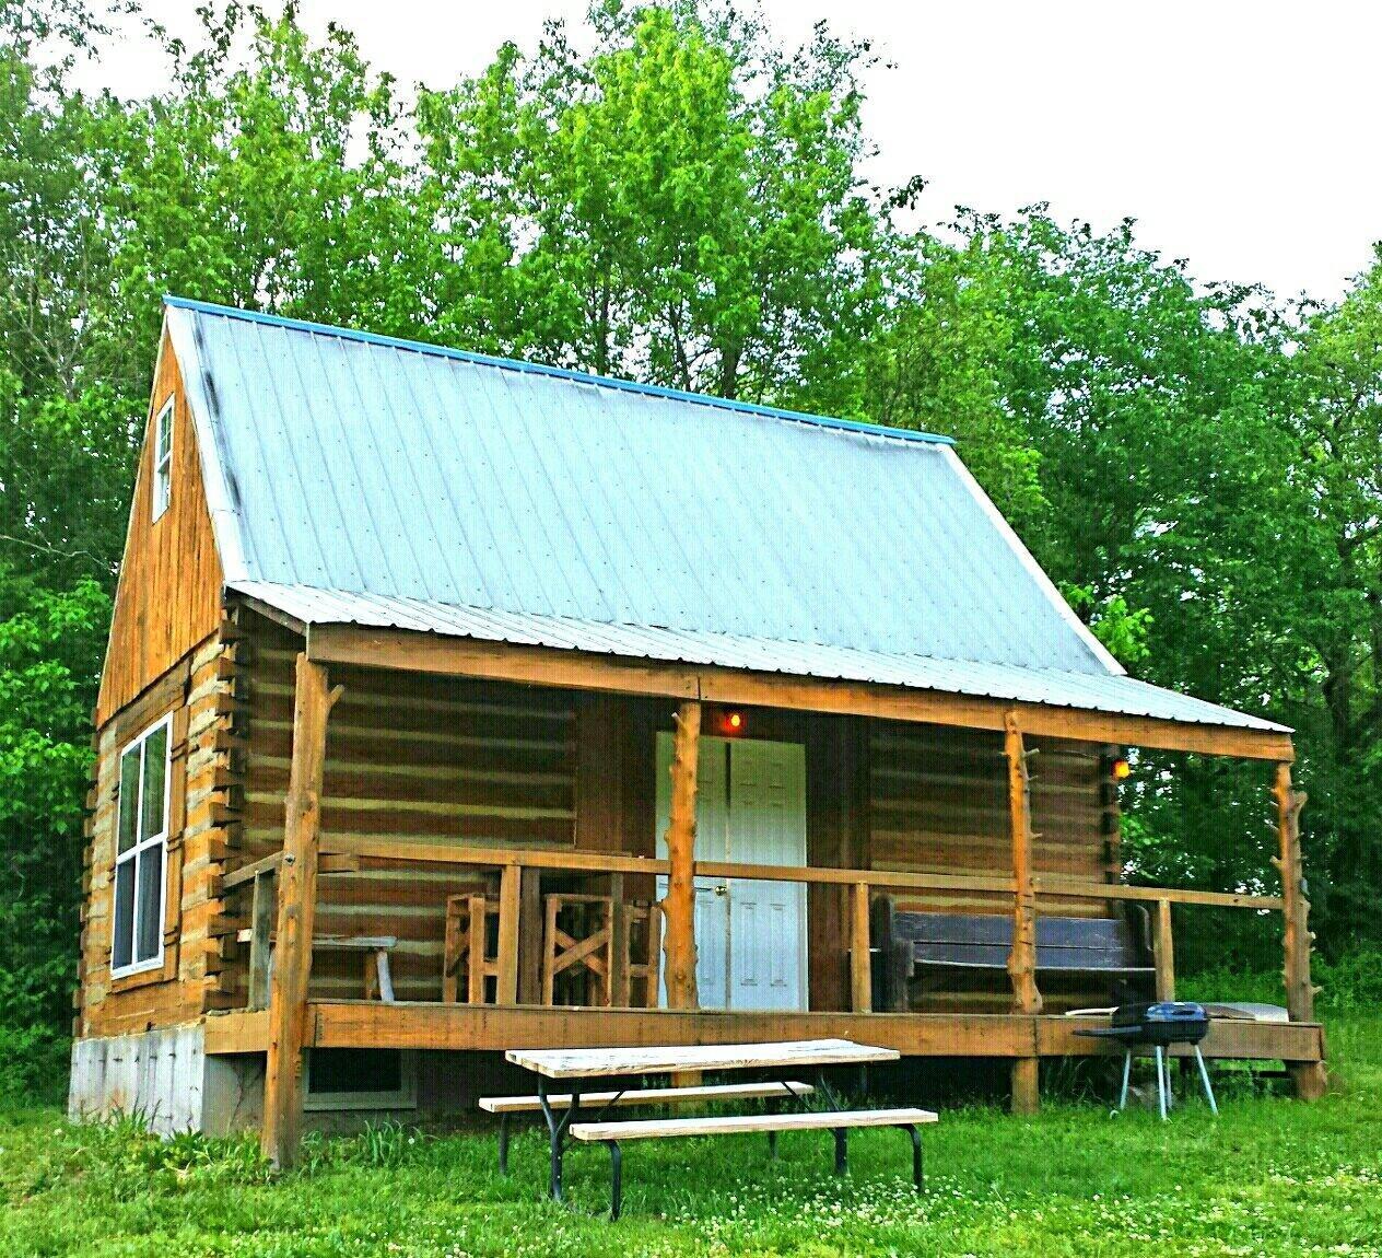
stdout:
[(120, 753), (112, 977), (137, 975), (163, 964), (171, 733), (173, 717), (164, 716)]

